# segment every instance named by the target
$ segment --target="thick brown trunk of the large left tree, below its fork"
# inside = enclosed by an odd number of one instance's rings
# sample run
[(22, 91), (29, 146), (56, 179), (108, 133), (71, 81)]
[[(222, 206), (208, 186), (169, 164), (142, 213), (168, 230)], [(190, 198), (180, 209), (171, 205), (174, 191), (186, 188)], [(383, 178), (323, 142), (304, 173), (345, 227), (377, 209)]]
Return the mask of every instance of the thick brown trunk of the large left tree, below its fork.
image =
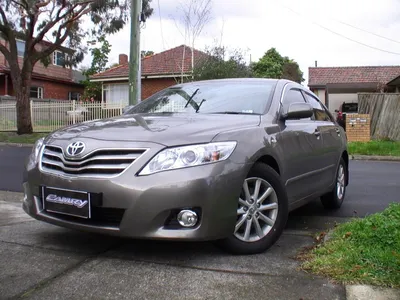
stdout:
[(21, 78), (15, 78), (15, 80), (13, 80), (15, 97), (17, 100), (17, 133), (30, 134), (33, 131), (29, 97), (32, 71), (26, 71), (25, 74), (21, 75)]

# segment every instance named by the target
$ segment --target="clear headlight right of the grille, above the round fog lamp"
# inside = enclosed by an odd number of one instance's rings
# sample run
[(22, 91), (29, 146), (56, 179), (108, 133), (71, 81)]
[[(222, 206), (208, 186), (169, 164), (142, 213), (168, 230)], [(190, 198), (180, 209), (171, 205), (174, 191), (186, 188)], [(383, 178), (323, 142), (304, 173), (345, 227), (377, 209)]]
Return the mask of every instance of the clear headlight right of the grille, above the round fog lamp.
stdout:
[(158, 153), (139, 175), (222, 161), (232, 154), (235, 147), (236, 142), (218, 142), (165, 149)]

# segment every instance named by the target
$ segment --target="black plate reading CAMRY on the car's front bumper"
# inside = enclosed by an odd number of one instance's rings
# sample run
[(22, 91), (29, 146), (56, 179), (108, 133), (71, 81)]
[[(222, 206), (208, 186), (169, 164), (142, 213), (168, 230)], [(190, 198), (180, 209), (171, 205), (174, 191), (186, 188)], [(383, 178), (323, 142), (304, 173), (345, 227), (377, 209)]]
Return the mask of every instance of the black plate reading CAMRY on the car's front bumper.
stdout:
[(90, 193), (42, 187), (43, 209), (47, 212), (90, 219)]

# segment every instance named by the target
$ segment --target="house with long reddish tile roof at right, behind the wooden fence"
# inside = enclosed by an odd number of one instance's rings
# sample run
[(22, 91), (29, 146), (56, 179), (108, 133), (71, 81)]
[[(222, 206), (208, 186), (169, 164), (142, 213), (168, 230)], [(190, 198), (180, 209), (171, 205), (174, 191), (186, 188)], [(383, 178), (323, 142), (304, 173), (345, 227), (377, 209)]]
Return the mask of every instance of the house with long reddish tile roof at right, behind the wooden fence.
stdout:
[(400, 92), (400, 66), (310, 67), (308, 87), (331, 112), (357, 93)]

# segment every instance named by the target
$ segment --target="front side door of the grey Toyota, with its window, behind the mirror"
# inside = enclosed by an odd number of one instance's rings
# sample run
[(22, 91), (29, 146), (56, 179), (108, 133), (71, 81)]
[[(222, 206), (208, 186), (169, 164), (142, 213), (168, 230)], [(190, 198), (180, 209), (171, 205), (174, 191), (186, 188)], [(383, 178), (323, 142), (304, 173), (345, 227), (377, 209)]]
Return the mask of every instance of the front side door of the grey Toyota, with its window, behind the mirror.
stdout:
[[(280, 112), (285, 113), (289, 105), (296, 102), (306, 102), (301, 90), (287, 88), (283, 93)], [(311, 118), (286, 120), (280, 127), (276, 145), (285, 164), (289, 201), (293, 202), (318, 191), (316, 173), (323, 167), (322, 138), (317, 123)]]

